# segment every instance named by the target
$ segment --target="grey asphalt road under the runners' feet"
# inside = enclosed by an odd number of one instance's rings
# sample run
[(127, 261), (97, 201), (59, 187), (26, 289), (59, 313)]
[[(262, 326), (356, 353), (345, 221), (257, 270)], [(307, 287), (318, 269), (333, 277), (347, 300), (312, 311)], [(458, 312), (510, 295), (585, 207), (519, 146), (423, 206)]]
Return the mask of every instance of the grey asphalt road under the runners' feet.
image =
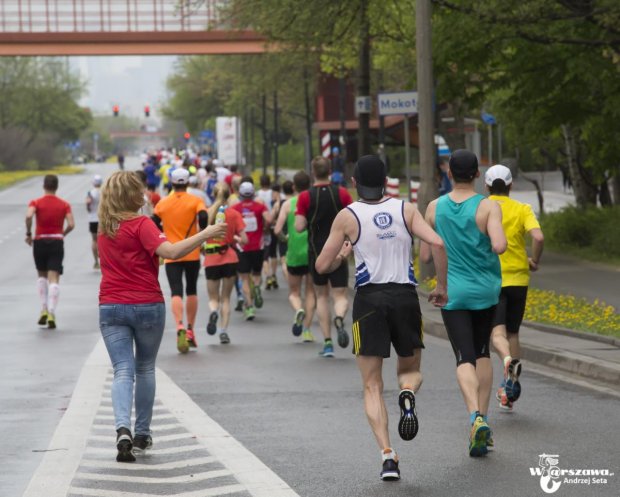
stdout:
[[(89, 174), (95, 170), (107, 174), (114, 166), (89, 165), (87, 169)], [(39, 474), (37, 467), (43, 460), (43, 451), (57, 449), (50, 447), (50, 441), (70, 405), (71, 396), (75, 393), (74, 402), (86, 403), (89, 389), (93, 392), (103, 389), (105, 378), (91, 379), (82, 372), (99, 341), (99, 278), (91, 269), (83, 208), (89, 174), (61, 178), (59, 195), (73, 204), (77, 229), (66, 242), (66, 269), (57, 312), (59, 328), (55, 331), (39, 329), (35, 324), (38, 317), (35, 272), (30, 249), (23, 241), (26, 205), (29, 199), (39, 195), (41, 180), (32, 179), (0, 192), (3, 233), (0, 256), (10, 261), (0, 266), (0, 278), (5, 282), (0, 289), (0, 312), (5, 321), (0, 332), (2, 497), (23, 495), (33, 476)], [(163, 272), (161, 281), (167, 293)], [(204, 280), (199, 292), (199, 349), (179, 355), (173, 326), (169, 323), (158, 359), (158, 367), (169, 380), (159, 383), (158, 406), (176, 412), (179, 419), (181, 411), (191, 412), (181, 423), (190, 435), (200, 430), (201, 416), (208, 415), (212, 421), (205, 418), (204, 423), (212, 422), (218, 429), (226, 430), (229, 439), (256, 456), (274, 478), (281, 478), (290, 487), (291, 493), (286, 495), (541, 496), (544, 493), (539, 487), (540, 477), (531, 476), (530, 468), (538, 466), (539, 455), (543, 453), (559, 455), (560, 468), (609, 468), (611, 472), (620, 469), (618, 398), (535, 374), (527, 366), (523, 398), (515, 412), (504, 414), (495, 404), (492, 406), (494, 453), (485, 459), (470, 459), (466, 455), (468, 415), (456, 386), (451, 348), (445, 341), (427, 337), (422, 361), (425, 381), (418, 395), (421, 428), (418, 437), (410, 443), (401, 441), (396, 434), (395, 364), (393, 360), (386, 362), (385, 388), (392, 442), (401, 457), (403, 479), (396, 484), (382, 483), (378, 478), (379, 451), (364, 416), (360, 378), (350, 351), (337, 350), (337, 357), (327, 360), (318, 357), (319, 344), (298, 343), (290, 333), (292, 311), (282, 287), (265, 292), (265, 306), (254, 323), (244, 322), (236, 313), (230, 327), (232, 344), (221, 346), (203, 331), (207, 318)], [(350, 317), (347, 322), (350, 323)], [(179, 407), (180, 401), (175, 397), (180, 395), (178, 392), (189, 396), (191, 408), (185, 404)], [(100, 407), (97, 402), (99, 410), (104, 412), (99, 416), (101, 419), (109, 413), (108, 406), (105, 399)], [(80, 419), (89, 421), (84, 416)], [(112, 440), (111, 421), (107, 421), (109, 430), (105, 421), (97, 423), (103, 423), (103, 427), (93, 424), (93, 431), (104, 439), (109, 435)], [(76, 437), (77, 426), (76, 423)], [(159, 430), (159, 447), (174, 445), (175, 442), (163, 441), (164, 429)], [(157, 447), (157, 428), (154, 439)], [(97, 461), (114, 466), (113, 442), (101, 442), (97, 447), (95, 452), (101, 453)], [(220, 453), (215, 447), (206, 446), (206, 450), (212, 455)], [(168, 456), (153, 455), (151, 462), (164, 457)], [(80, 471), (84, 471), (87, 459), (93, 457), (83, 456)], [(224, 466), (236, 467), (234, 463)], [(180, 481), (175, 485), (157, 480), (132, 487), (128, 483), (131, 474), (118, 484), (103, 477), (100, 481), (98, 477), (77, 479), (72, 486), (89, 486), (90, 493), (69, 495), (140, 497), (179, 492), (190, 495), (187, 492), (198, 488), (198, 482), (188, 482), (187, 478), (181, 478), (182, 471), (175, 471)], [(116, 470), (112, 473), (109, 477), (112, 479), (120, 474)], [(234, 482), (244, 481), (244, 474), (236, 470), (231, 473), (232, 476), (226, 477), (231, 478), (226, 488), (234, 492), (240, 488)], [(617, 497), (620, 479), (615, 475), (608, 479), (607, 484), (589, 486), (565, 483), (556, 495)], [(48, 482), (49, 489), (54, 481)], [(105, 488), (111, 490), (108, 493), (96, 490)], [(137, 493), (114, 493), (121, 490)], [(47, 497), (53, 493), (46, 490), (39, 495)], [(220, 494), (197, 491), (191, 495)], [(239, 495), (248, 494), (239, 490)]]

